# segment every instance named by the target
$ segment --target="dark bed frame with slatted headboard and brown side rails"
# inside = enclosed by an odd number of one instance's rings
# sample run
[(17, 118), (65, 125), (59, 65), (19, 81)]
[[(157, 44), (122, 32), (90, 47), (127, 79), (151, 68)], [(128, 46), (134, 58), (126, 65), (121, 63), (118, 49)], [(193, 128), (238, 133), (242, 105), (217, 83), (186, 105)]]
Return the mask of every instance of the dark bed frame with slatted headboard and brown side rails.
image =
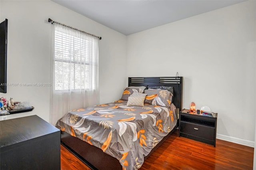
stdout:
[[(177, 108), (176, 114), (182, 109), (183, 77), (128, 77), (128, 86), (173, 86), (173, 103)], [(144, 160), (172, 134), (176, 127), (144, 157)], [(100, 148), (92, 146), (64, 131), (61, 131), (61, 143), (91, 169), (122, 170), (122, 166), (116, 158), (104, 153)]]

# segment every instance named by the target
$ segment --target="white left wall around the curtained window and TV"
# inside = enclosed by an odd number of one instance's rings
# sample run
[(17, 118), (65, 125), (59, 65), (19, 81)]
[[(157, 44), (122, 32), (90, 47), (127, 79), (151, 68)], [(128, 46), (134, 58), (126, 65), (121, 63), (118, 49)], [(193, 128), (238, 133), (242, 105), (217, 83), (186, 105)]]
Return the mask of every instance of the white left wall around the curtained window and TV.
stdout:
[[(8, 83), (49, 83), (52, 25), (48, 18), (102, 36), (99, 41), (100, 103), (120, 98), (126, 86), (126, 36), (49, 0), (2, 1), (0, 21), (8, 19)], [(116, 83), (118, 82), (118, 84)], [(29, 113), (9, 115), (8, 119), (38, 115), (49, 121), (50, 88), (7, 87), (0, 96), (29, 101)], [(109, 95), (109, 91), (116, 91)], [(120, 93), (118, 93), (120, 92)]]

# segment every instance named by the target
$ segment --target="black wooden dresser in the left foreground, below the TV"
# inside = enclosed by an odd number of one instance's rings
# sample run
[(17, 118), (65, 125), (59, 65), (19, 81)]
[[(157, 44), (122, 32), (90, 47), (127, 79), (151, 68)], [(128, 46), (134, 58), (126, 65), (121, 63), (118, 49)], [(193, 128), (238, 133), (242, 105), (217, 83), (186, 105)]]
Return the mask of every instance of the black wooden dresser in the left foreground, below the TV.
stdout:
[(60, 130), (33, 115), (0, 121), (1, 170), (60, 170)]

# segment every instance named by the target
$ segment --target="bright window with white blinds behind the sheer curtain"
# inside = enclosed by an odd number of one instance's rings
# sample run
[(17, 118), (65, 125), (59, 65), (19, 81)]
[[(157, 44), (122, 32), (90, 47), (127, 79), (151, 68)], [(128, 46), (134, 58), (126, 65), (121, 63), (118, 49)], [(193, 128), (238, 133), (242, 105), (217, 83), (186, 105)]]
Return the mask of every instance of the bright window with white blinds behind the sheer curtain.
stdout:
[(97, 40), (82, 32), (55, 26), (55, 91), (92, 91), (95, 89)]

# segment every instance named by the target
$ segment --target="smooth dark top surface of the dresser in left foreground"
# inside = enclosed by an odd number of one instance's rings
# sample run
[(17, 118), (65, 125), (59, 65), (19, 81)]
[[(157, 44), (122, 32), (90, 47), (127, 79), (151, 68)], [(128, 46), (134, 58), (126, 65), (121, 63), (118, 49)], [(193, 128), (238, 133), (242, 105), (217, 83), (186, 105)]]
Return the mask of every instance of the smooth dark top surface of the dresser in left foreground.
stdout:
[(0, 148), (58, 131), (37, 115), (0, 121)]

